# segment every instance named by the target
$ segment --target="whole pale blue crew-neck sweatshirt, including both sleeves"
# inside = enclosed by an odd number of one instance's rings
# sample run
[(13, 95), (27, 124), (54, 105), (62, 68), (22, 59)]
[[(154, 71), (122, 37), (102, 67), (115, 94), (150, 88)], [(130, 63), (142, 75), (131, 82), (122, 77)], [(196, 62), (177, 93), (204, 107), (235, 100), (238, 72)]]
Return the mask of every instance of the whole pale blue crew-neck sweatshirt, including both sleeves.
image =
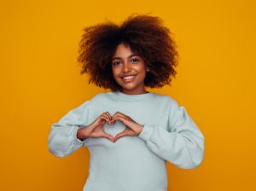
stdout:
[[(117, 142), (107, 138), (77, 138), (82, 126), (102, 113), (124, 113), (144, 124), (139, 136), (123, 136)], [(104, 124), (113, 137), (125, 124)], [(201, 165), (205, 139), (184, 107), (171, 96), (149, 92), (126, 95), (120, 91), (100, 93), (69, 111), (52, 125), (49, 152), (65, 157), (81, 147), (90, 150), (89, 177), (84, 191), (166, 191), (166, 162), (179, 168)]]

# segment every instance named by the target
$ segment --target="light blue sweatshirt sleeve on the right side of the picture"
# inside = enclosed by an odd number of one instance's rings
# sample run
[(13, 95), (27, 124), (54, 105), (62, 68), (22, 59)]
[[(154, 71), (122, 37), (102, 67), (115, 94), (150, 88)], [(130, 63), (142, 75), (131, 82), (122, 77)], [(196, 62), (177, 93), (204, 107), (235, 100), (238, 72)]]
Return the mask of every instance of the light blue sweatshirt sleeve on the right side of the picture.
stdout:
[(138, 137), (149, 150), (183, 169), (201, 165), (205, 138), (186, 109), (172, 100), (166, 128), (144, 124)]

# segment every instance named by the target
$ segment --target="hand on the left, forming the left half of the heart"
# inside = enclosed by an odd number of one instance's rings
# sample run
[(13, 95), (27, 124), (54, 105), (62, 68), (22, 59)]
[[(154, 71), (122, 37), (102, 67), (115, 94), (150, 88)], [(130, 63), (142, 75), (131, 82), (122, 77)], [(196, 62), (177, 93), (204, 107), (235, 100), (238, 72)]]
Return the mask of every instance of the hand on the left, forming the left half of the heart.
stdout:
[[(103, 125), (111, 120), (111, 115), (108, 112), (102, 113), (94, 122), (82, 128), (81, 134), (86, 138), (105, 137), (111, 142), (114, 142), (113, 136), (103, 130)], [(109, 123), (110, 124), (110, 123)]]

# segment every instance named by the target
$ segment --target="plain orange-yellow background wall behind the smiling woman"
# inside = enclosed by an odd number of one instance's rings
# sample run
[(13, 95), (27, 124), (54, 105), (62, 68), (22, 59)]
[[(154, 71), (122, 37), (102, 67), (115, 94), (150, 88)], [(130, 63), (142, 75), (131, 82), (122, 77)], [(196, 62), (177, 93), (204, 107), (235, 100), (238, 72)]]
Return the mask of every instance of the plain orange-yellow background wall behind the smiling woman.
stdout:
[(206, 138), (198, 168), (167, 164), (168, 191), (256, 190), (255, 10), (253, 0), (2, 0), (0, 190), (82, 190), (89, 151), (54, 157), (49, 130), (67, 111), (107, 91), (79, 74), (84, 26), (132, 13), (160, 16), (174, 33), (177, 78), (151, 91), (186, 107)]

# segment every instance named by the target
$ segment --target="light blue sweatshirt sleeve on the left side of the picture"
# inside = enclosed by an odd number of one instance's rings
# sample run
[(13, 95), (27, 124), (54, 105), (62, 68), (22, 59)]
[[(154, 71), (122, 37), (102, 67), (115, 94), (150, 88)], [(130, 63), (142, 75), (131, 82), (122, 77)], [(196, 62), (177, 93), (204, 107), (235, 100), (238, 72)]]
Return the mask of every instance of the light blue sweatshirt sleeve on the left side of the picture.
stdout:
[(75, 150), (86, 146), (88, 138), (80, 141), (77, 138), (79, 128), (85, 126), (89, 118), (90, 101), (70, 110), (59, 122), (52, 124), (48, 136), (49, 152), (56, 157), (65, 157)]

